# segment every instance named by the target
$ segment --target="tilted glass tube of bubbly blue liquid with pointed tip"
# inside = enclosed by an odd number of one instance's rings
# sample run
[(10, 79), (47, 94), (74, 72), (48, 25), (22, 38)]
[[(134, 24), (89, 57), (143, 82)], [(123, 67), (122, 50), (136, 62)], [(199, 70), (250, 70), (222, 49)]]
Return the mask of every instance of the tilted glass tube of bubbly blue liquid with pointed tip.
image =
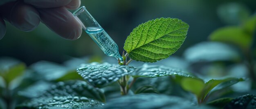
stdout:
[(111, 39), (108, 33), (106, 33), (84, 6), (77, 9), (73, 15), (79, 20), (85, 32), (106, 55), (119, 59), (121, 63), (123, 62), (123, 58), (118, 52), (118, 46), (115, 41)]

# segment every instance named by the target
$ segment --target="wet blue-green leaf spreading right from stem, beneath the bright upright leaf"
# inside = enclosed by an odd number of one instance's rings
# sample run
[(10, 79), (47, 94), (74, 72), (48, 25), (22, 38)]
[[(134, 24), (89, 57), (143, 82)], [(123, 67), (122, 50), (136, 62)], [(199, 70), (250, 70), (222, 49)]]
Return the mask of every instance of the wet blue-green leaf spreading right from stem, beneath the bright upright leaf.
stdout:
[(185, 76), (185, 77), (194, 77), (186, 71), (183, 71), (179, 68), (172, 68), (163, 65), (148, 65), (144, 64), (139, 67), (134, 73), (133, 77), (161, 77), (161, 76)]

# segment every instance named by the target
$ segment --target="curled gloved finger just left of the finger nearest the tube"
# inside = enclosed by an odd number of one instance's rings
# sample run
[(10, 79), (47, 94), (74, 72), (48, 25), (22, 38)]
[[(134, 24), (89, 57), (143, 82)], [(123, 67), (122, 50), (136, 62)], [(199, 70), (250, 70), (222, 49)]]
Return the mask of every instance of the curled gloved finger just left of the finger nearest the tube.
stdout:
[(40, 23), (38, 11), (29, 4), (15, 2), (1, 7), (2, 17), (22, 31), (32, 31)]

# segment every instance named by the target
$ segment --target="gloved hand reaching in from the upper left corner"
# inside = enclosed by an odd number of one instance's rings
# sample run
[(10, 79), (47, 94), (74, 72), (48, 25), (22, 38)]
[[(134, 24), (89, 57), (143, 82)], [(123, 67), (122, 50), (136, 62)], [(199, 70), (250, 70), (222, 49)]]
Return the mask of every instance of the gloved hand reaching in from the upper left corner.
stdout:
[(80, 0), (18, 0), (0, 5), (0, 39), (6, 32), (4, 20), (22, 31), (33, 31), (43, 22), (65, 39), (78, 39), (82, 26), (67, 9), (80, 4)]

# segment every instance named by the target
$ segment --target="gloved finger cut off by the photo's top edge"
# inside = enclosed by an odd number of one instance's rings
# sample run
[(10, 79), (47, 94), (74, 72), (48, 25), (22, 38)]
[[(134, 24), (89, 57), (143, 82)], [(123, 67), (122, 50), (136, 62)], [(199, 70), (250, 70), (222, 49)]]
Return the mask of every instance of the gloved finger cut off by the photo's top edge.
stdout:
[(24, 2), (36, 8), (54, 8), (63, 7), (69, 4), (71, 0), (24, 0)]

